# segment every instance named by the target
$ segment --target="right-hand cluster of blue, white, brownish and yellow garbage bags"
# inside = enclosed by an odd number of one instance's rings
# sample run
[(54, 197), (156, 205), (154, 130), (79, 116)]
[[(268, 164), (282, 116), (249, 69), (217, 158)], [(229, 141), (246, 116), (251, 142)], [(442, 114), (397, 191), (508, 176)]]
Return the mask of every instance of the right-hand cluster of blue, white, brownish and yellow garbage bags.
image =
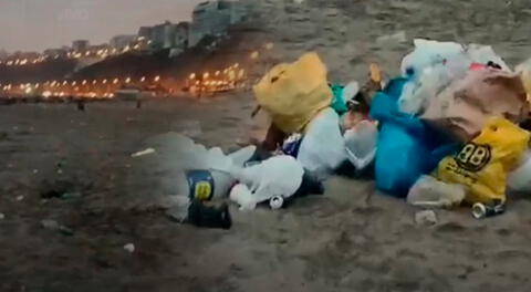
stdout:
[(529, 65), (513, 72), (490, 46), (416, 40), (371, 104), (377, 187), (416, 206), (469, 205), (476, 218), (502, 212), (507, 189), (530, 190), (527, 82)]

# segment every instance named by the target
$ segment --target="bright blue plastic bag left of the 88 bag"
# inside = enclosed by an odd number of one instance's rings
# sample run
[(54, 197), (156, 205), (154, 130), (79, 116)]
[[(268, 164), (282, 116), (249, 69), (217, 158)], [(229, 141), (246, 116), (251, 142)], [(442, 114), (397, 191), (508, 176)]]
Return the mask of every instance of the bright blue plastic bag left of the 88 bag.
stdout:
[(406, 197), (424, 174), (455, 153), (458, 144), (398, 109), (398, 97), (408, 79), (392, 80), (371, 104), (371, 117), (379, 122), (376, 149), (376, 187), (395, 197)]

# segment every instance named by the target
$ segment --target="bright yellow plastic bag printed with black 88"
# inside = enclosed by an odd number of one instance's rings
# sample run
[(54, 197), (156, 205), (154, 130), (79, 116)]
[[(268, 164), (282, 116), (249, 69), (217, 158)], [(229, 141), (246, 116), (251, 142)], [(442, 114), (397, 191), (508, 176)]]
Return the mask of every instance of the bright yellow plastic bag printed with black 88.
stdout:
[(494, 117), (456, 156), (442, 159), (435, 176), (445, 182), (469, 187), (465, 200), (470, 204), (504, 202), (507, 174), (518, 165), (528, 143), (527, 131)]

